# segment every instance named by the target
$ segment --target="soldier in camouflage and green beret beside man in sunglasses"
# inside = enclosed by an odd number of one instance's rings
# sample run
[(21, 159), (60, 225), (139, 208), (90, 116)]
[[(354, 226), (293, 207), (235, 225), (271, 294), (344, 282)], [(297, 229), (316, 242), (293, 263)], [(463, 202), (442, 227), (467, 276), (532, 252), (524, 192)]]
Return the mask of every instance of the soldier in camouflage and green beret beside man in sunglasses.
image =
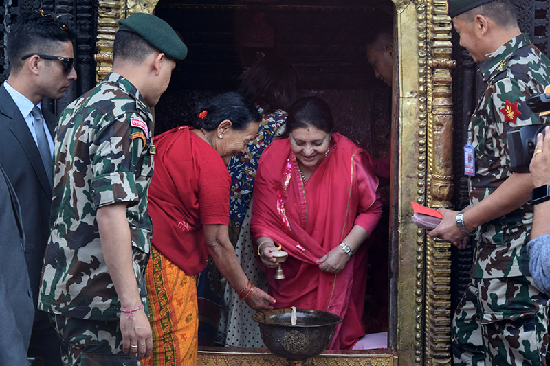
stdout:
[(65, 364), (137, 365), (151, 353), (143, 277), (152, 229), (150, 108), (186, 52), (156, 16), (121, 20), (113, 72), (60, 117), (39, 308), (51, 314)]

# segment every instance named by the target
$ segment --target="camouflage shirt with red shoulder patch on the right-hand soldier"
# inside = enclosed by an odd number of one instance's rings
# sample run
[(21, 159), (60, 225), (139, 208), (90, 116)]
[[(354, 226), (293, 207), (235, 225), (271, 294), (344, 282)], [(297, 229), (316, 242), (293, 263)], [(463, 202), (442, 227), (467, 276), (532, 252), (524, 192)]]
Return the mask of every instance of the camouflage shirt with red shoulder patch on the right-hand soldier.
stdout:
[[(540, 124), (538, 113), (525, 103), (550, 84), (550, 61), (525, 34), (496, 49), (479, 72), (485, 82), (470, 120), (470, 144), (475, 151), (475, 176), (470, 178), (470, 205), (492, 194), (512, 172), (506, 133), (511, 128)], [(486, 222), (476, 233), (474, 278), (529, 275), (527, 241), (533, 205)]]

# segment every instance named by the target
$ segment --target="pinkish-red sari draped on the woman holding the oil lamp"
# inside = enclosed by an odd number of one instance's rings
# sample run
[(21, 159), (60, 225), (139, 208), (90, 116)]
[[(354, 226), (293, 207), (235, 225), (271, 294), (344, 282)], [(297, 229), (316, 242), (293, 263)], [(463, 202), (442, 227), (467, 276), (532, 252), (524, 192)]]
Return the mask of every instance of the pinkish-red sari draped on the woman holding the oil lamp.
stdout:
[(371, 157), (334, 133), (329, 154), (303, 184), (288, 139), (278, 139), (263, 153), (254, 185), (252, 237), (263, 236), (289, 253), (285, 279), (265, 268), (276, 308), (324, 310), (344, 319), (331, 349), (350, 349), (364, 335), (366, 245), (338, 274), (321, 271), (317, 260), (337, 247), (354, 225), (371, 233), (382, 215), (378, 180)]

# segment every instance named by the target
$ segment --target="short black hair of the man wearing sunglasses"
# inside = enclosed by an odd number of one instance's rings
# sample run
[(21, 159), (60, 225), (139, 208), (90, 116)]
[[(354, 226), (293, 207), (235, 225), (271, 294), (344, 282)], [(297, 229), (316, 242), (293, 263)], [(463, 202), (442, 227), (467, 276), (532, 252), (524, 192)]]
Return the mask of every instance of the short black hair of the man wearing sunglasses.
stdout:
[(8, 33), (8, 60), (10, 69), (23, 66), (23, 56), (28, 54), (51, 54), (57, 51), (59, 43), (73, 42), (75, 34), (68, 23), (58, 16), (29, 10), (21, 12)]

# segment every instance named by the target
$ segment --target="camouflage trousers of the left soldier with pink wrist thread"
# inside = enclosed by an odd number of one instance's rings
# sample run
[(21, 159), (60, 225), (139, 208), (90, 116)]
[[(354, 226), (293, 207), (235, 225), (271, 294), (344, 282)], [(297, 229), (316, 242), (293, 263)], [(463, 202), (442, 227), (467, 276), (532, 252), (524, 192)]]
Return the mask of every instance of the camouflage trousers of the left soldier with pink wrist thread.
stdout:
[(61, 336), (63, 365), (139, 366), (122, 352), (118, 321), (96, 321), (50, 314), (50, 321)]

